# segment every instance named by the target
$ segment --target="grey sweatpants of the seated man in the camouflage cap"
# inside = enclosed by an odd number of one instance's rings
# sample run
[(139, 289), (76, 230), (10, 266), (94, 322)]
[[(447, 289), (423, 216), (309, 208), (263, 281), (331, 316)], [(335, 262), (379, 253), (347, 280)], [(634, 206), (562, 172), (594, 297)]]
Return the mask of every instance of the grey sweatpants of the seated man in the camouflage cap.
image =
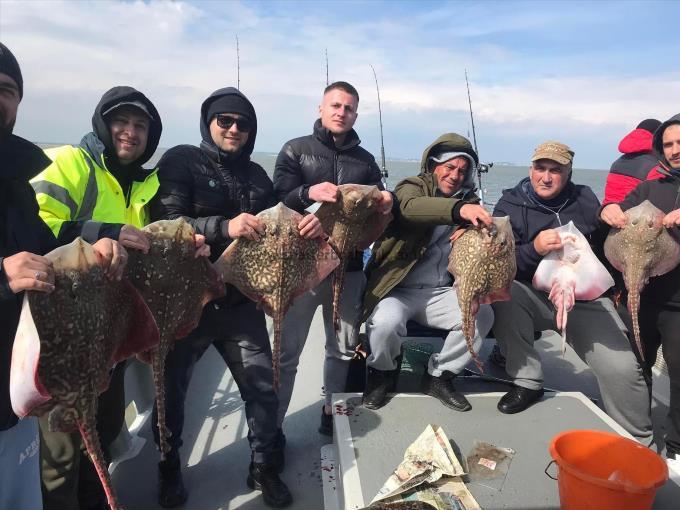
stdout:
[[(517, 386), (543, 387), (534, 331), (555, 329), (555, 309), (545, 292), (514, 281), (510, 301), (491, 306), (494, 333)], [(649, 388), (633, 354), (627, 329), (608, 298), (577, 301), (569, 312), (567, 342), (592, 369), (607, 414), (642, 444), (652, 442)]]

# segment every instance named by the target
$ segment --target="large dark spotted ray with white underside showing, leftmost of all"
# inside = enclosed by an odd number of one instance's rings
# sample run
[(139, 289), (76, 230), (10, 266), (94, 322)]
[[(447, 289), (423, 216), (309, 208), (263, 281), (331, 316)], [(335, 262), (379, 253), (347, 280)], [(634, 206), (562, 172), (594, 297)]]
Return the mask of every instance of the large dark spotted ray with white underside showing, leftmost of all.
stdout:
[(81, 238), (48, 253), (51, 294), (26, 292), (10, 371), (14, 412), (48, 415), (51, 430), (79, 430), (109, 507), (120, 509), (97, 433), (97, 397), (116, 362), (158, 344), (156, 323), (126, 280), (109, 281)]

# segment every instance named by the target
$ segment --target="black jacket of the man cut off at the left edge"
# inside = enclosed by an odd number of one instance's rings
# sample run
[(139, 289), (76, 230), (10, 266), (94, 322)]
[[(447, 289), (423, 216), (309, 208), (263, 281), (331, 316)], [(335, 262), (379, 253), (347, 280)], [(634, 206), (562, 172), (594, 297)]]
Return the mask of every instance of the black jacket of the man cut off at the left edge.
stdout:
[(18, 136), (0, 141), (0, 430), (17, 422), (9, 400), (9, 368), (23, 299), (23, 293), (9, 288), (2, 262), (22, 251), (44, 255), (56, 247), (28, 184), (50, 163), (39, 147)]

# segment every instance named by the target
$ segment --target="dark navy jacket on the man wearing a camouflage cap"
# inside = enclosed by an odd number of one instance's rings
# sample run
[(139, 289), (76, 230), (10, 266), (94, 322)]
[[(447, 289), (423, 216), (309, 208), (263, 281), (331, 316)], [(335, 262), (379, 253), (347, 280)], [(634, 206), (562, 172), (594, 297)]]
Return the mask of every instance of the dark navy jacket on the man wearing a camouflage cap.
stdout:
[(543, 259), (534, 248), (536, 236), (543, 230), (557, 228), (570, 221), (574, 222), (590, 242), (595, 254), (603, 260), (603, 231), (597, 216), (600, 202), (588, 186), (574, 184), (571, 180), (567, 182), (562, 192), (566, 195), (565, 204), (556, 214), (532, 200), (526, 191), (527, 185), (531, 186), (531, 183), (525, 177), (514, 188), (503, 190), (493, 210), (494, 216), (510, 216), (515, 234), (517, 280), (530, 283)]

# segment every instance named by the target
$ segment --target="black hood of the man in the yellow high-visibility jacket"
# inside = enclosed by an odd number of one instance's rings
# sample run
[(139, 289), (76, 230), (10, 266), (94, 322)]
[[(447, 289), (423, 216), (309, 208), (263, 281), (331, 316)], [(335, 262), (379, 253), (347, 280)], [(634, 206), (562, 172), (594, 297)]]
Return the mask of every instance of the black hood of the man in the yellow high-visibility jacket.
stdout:
[[(94, 114), (92, 115), (92, 131), (98, 138), (99, 142), (103, 144), (103, 152), (106, 155), (107, 163), (109, 163), (110, 166), (118, 166), (118, 160), (113, 147), (113, 140), (111, 139), (111, 131), (109, 130), (109, 126), (106, 123), (103, 112), (106, 112), (119, 103), (135, 101), (141, 102), (146, 106), (152, 119), (149, 122), (149, 137), (146, 142), (146, 150), (136, 161), (132, 163), (132, 165), (141, 167), (144, 163), (151, 159), (151, 156), (153, 156), (154, 152), (156, 152), (156, 149), (158, 148), (158, 143), (161, 140), (161, 132), (163, 131), (163, 123), (161, 122), (161, 116), (158, 113), (158, 110), (156, 110), (154, 104), (144, 94), (136, 89), (133, 89), (132, 87), (113, 87), (102, 96), (102, 98), (99, 100), (99, 104), (97, 104), (97, 107), (94, 110)], [(101, 146), (92, 147), (93, 142), (96, 141), (91, 140), (91, 137), (85, 135), (81, 145), (84, 146), (85, 149), (90, 152), (90, 154), (96, 155), (97, 152), (101, 151)]]

